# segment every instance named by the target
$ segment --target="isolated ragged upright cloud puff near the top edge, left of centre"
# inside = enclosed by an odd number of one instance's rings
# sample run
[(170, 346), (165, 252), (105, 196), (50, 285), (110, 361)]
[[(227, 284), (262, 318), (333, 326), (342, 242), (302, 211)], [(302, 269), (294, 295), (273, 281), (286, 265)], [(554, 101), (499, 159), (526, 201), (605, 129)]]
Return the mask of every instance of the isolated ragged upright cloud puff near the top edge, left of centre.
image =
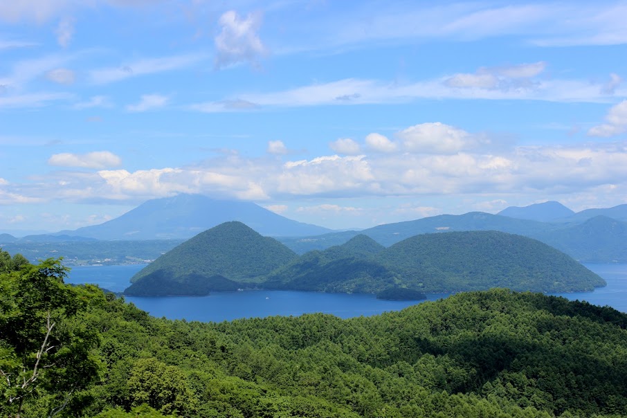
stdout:
[(218, 24), (220, 33), (215, 37), (217, 56), (215, 66), (218, 69), (230, 64), (249, 62), (257, 64), (257, 59), (266, 53), (266, 48), (257, 35), (262, 23), (259, 13), (252, 13), (242, 19), (235, 10), (221, 15)]

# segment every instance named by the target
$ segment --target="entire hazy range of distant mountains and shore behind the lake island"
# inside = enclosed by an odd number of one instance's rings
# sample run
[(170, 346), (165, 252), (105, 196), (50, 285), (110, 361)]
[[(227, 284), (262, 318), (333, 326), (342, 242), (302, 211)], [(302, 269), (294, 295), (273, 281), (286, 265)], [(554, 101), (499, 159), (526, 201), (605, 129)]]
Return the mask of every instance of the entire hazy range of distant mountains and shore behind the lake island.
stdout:
[[(548, 201), (525, 207), (510, 207), (498, 215), (469, 212), (438, 215), (413, 221), (383, 224), (362, 231), (332, 231), (277, 215), (255, 203), (210, 199), (197, 194), (154, 199), (124, 215), (96, 226), (64, 230), (52, 235), (15, 238), (1, 234), (0, 246), (11, 253), (21, 252), (29, 260), (66, 256), (73, 260), (111, 262), (154, 259), (174, 245), (151, 242), (151, 251), (140, 251), (143, 240), (193, 237), (226, 221), (241, 221), (265, 236), (276, 237), (298, 254), (344, 244), (358, 234), (371, 237), (383, 246), (424, 233), (466, 230), (498, 230), (538, 239), (581, 262), (627, 262), (627, 204), (606, 209), (573, 212), (561, 203)], [(102, 244), (93, 240), (133, 241), (125, 244), (128, 253), (114, 257), (98, 254)], [(91, 242), (90, 242), (91, 241)], [(75, 245), (64, 243), (73, 242)], [(64, 244), (64, 245), (61, 245)], [(108, 252), (111, 254), (111, 251)], [(141, 253), (141, 255), (140, 255)]]

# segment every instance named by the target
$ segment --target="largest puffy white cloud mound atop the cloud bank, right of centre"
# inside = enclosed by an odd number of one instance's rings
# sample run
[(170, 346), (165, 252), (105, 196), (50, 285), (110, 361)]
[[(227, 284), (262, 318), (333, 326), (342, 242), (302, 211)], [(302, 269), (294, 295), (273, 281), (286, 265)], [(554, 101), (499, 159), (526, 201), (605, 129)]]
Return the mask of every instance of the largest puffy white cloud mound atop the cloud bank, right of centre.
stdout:
[(397, 136), (406, 150), (426, 154), (454, 154), (475, 145), (471, 134), (442, 122), (414, 125)]

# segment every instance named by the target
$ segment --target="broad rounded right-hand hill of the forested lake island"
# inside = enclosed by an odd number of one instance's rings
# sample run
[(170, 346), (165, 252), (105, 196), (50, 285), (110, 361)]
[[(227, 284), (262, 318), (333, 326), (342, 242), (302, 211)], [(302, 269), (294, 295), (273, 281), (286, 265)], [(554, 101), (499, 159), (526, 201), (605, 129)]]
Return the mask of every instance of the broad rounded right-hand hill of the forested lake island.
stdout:
[(536, 239), (497, 231), (416, 235), (379, 254), (408, 287), (466, 291), (591, 291), (606, 282), (572, 257)]

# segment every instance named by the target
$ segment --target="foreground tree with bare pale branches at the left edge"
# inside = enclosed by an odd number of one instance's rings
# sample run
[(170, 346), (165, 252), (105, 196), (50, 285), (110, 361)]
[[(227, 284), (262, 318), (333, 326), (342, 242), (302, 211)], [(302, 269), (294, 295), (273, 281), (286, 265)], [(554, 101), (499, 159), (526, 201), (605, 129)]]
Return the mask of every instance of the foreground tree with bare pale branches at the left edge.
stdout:
[(12, 266), (0, 274), (0, 415), (77, 412), (75, 395), (96, 379), (99, 364), (98, 334), (82, 319), (102, 293), (64, 285), (61, 260)]

